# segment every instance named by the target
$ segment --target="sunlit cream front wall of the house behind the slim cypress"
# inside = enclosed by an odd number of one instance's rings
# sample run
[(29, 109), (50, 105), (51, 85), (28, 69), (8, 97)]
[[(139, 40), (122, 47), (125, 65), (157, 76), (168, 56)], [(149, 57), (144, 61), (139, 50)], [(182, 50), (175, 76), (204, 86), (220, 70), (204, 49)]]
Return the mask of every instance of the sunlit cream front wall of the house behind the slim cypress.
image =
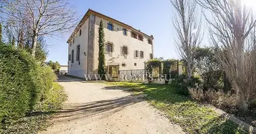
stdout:
[[(100, 25), (100, 20), (102, 18), (96, 16), (96, 25), (95, 25), (95, 47), (94, 47), (94, 70), (98, 68), (98, 27)], [(106, 54), (106, 66), (118, 63), (119, 70), (138, 70), (144, 69), (144, 62), (150, 60), (150, 54), (153, 53), (152, 45), (148, 44), (148, 38), (143, 36), (143, 42), (135, 38), (131, 38), (131, 29), (127, 29), (127, 36), (123, 35), (123, 28), (120, 25), (113, 23), (114, 30), (111, 31), (107, 29), (109, 21), (102, 19), (104, 23), (104, 34), (105, 42), (112, 42), (114, 52), (113, 54)], [(153, 43), (154, 44), (154, 43)], [(128, 46), (128, 55), (121, 56), (121, 47)], [(144, 52), (144, 58), (134, 58), (134, 51), (139, 50)], [(121, 66), (122, 63), (125, 63), (126, 66)], [(137, 66), (135, 66), (135, 63)], [(97, 72), (95, 72), (97, 73)]]

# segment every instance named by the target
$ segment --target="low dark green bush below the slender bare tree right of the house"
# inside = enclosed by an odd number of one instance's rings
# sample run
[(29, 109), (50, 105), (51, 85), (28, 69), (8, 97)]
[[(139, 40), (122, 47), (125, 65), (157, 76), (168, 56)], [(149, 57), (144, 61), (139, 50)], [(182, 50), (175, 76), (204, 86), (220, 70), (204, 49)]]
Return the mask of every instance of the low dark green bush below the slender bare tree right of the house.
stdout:
[(175, 85), (177, 93), (189, 95), (189, 88), (195, 88), (195, 86), (200, 84), (199, 78), (189, 77), (185, 74), (178, 76), (172, 81)]

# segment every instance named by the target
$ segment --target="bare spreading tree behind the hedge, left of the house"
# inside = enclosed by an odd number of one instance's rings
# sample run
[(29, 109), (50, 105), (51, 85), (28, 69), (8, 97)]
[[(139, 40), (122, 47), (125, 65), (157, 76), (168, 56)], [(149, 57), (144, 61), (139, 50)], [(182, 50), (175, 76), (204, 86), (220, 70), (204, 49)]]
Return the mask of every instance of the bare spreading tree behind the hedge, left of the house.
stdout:
[(77, 24), (77, 17), (67, 0), (1, 0), (0, 13), (15, 18), (32, 31), (32, 56), (36, 53), (38, 36), (56, 36)]

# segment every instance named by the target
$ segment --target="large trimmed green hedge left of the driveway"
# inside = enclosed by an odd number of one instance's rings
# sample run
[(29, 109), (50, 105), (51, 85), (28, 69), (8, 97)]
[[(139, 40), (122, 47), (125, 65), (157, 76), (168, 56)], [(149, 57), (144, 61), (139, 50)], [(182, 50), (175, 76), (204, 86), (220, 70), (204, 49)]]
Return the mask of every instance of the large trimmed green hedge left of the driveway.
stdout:
[(40, 66), (26, 51), (0, 44), (0, 127), (37, 110), (54, 80), (53, 70)]

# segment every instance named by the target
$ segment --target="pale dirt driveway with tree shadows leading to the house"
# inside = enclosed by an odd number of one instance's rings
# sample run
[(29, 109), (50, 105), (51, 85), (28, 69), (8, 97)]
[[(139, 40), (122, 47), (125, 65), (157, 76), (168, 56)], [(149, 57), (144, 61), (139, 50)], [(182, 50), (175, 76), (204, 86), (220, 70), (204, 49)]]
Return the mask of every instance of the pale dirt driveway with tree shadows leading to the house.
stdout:
[(63, 80), (69, 96), (47, 131), (41, 133), (183, 133), (142, 96), (96, 83)]

